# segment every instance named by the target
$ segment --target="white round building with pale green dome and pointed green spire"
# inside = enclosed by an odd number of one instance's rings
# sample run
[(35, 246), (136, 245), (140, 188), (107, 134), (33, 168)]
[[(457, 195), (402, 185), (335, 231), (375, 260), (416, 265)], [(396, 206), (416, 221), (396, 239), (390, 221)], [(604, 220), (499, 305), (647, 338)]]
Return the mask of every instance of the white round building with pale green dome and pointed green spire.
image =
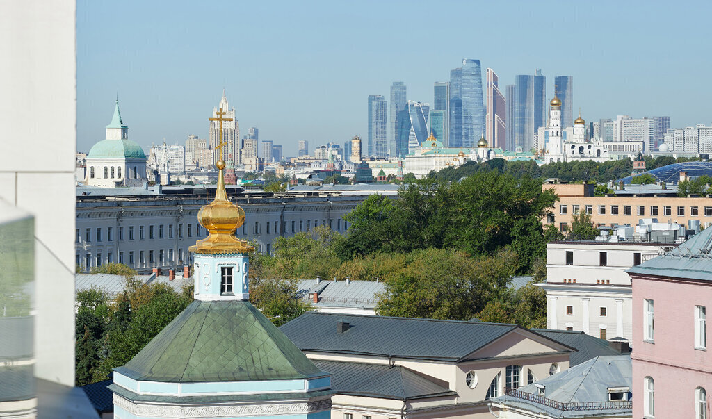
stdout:
[(146, 154), (128, 139), (129, 127), (121, 120), (119, 101), (106, 126), (106, 139), (94, 144), (87, 155), (84, 184), (88, 186), (140, 186), (147, 181)]

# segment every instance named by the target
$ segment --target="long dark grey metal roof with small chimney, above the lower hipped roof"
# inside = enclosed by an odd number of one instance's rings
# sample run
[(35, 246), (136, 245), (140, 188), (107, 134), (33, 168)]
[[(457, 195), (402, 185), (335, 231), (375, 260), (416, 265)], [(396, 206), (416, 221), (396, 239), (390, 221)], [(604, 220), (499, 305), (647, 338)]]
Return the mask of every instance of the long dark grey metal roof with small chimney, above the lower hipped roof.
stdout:
[[(350, 328), (339, 333), (336, 325), (342, 319)], [(302, 351), (457, 362), (522, 328), (515, 324), (308, 312), (280, 329)]]

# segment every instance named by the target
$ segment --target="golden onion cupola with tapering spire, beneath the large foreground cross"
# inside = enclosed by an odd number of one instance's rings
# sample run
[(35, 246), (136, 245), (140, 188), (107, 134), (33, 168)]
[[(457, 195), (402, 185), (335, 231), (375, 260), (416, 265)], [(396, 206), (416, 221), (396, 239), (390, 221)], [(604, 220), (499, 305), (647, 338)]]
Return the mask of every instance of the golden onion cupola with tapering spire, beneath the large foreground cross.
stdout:
[(254, 247), (235, 237), (235, 231), (245, 222), (245, 211), (227, 198), (225, 161), (219, 160), (216, 166), (219, 173), (215, 199), (198, 212), (198, 221), (208, 231), (208, 237), (198, 240), (189, 249), (194, 253), (247, 253)]

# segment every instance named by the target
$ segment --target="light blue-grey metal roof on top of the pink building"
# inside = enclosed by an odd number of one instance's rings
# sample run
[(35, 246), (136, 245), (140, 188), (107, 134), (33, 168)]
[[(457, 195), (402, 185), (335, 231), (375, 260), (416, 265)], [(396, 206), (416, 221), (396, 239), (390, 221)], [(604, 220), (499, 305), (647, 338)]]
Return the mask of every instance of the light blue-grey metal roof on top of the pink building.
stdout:
[(626, 272), (712, 281), (712, 228), (702, 230), (676, 248)]

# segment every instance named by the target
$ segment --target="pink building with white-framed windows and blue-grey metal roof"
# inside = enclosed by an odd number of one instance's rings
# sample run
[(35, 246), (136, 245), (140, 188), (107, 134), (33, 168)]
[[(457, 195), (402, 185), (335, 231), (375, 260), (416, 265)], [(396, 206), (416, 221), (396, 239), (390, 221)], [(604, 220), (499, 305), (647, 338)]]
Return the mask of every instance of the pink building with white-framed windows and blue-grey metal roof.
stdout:
[(633, 417), (710, 418), (712, 228), (632, 267)]

